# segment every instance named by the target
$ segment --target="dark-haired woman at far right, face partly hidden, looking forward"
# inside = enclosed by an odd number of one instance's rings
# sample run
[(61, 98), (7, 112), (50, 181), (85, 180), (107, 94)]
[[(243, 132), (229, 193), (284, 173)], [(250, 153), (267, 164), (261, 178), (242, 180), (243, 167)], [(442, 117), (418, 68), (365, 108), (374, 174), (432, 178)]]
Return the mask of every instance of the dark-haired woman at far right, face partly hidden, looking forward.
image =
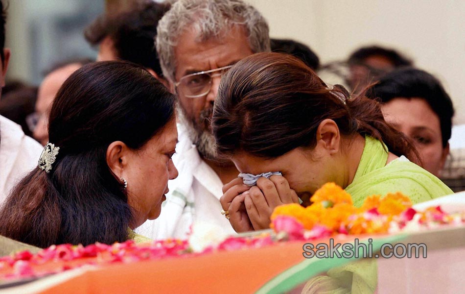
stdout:
[(439, 176), (449, 154), (454, 116), (441, 82), (422, 70), (404, 68), (383, 76), (367, 94), (381, 102), (385, 120), (412, 139), (423, 168)]

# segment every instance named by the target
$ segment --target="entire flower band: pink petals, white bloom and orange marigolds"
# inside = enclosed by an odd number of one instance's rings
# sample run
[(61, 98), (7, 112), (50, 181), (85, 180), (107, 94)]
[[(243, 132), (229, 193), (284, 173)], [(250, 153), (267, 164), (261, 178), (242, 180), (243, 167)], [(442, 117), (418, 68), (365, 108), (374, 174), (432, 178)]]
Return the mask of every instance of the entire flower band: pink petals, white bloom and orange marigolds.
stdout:
[(217, 236), (215, 227), (194, 226), (189, 240), (163, 240), (148, 244), (134, 241), (105, 245), (52, 245), (37, 254), (18, 252), (0, 258), (0, 280), (40, 277), (85, 265), (106, 266), (142, 260), (180, 258), (187, 255), (208, 254), (259, 248), (287, 240), (309, 240), (337, 234), (360, 235), (418, 231), (425, 227), (463, 224), (465, 213), (447, 214), (441, 208), (430, 207), (423, 212), (412, 208), (410, 199), (401, 194), (384, 197), (369, 196), (360, 208), (341, 187), (327, 183), (311, 198), (312, 204), (281, 205), (271, 216), (275, 230), (247, 237)]

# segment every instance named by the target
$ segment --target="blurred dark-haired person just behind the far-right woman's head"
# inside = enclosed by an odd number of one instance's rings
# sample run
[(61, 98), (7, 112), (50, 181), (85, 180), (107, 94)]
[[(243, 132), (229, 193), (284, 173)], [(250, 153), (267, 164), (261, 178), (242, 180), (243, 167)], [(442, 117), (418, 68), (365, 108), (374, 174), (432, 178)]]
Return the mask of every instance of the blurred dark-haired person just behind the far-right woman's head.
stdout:
[(347, 61), (349, 86), (352, 92), (363, 90), (375, 80), (399, 67), (412, 66), (413, 62), (395, 49), (368, 46), (355, 50)]

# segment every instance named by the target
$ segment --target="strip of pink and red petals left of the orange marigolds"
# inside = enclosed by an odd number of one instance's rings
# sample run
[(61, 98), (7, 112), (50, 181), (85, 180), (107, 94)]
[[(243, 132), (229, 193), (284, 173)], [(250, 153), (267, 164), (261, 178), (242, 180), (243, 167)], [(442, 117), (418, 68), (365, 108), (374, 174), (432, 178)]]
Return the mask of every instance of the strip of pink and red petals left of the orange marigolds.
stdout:
[(76, 269), (82, 266), (106, 266), (114, 263), (133, 263), (162, 258), (180, 258), (201, 255), (214, 250), (237, 250), (263, 247), (273, 244), (270, 233), (255, 237), (226, 238), (216, 246), (203, 252), (193, 252), (187, 240), (168, 239), (147, 244), (136, 244), (129, 240), (124, 243), (106, 245), (95, 243), (83, 245), (51, 245), (37, 254), (18, 252), (0, 258), (0, 281), (49, 274)]

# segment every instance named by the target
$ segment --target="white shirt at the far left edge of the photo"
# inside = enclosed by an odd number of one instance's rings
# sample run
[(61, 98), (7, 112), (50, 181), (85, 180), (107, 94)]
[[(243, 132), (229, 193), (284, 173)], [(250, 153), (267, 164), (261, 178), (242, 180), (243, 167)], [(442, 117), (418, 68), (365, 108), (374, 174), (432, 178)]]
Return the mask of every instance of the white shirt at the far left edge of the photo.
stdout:
[(14, 185), (37, 167), (43, 148), (24, 135), (19, 124), (0, 116), (0, 206)]

